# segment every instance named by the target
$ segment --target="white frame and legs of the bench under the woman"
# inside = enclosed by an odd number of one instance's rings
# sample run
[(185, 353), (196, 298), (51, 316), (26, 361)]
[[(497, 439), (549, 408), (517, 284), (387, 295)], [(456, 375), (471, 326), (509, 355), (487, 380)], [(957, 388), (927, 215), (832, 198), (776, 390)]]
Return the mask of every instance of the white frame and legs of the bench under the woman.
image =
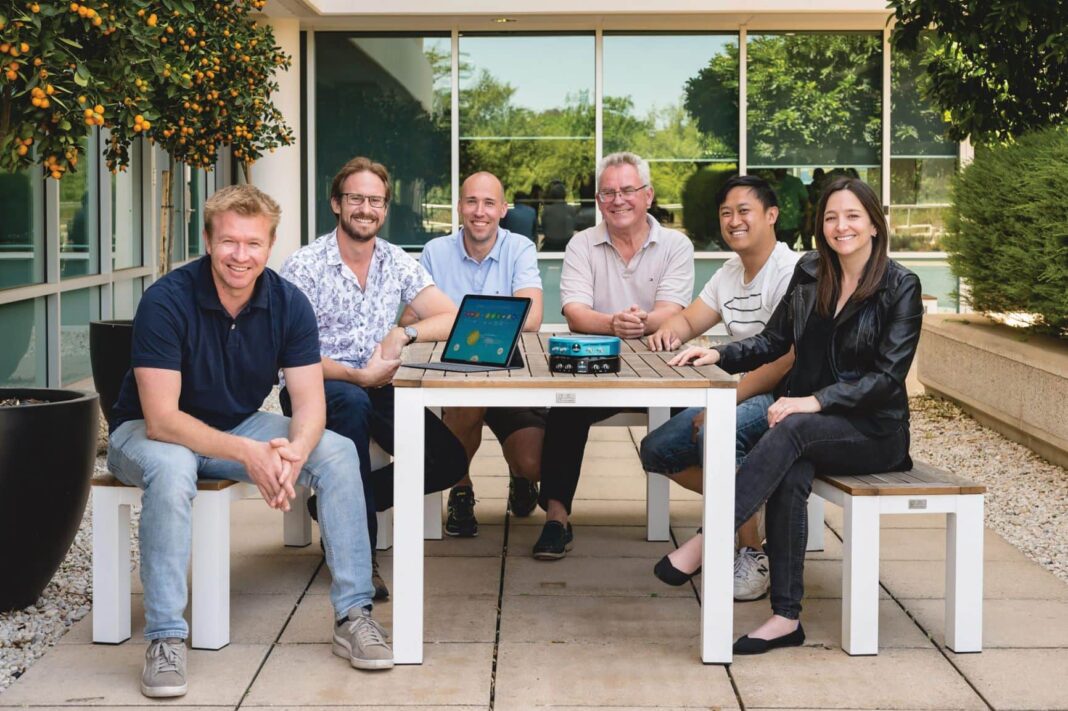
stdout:
[(983, 651), (984, 494), (853, 496), (816, 478), (814, 499), (842, 507), (842, 648), (849, 654), (879, 653), (879, 519), (883, 514), (945, 514), (945, 645), (955, 652)]

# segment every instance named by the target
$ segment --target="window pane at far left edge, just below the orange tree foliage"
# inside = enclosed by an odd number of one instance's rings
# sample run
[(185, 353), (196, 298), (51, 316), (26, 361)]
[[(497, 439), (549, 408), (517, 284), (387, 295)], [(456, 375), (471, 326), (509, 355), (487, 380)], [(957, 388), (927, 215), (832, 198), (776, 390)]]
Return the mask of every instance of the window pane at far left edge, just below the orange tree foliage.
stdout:
[(0, 172), (0, 289), (45, 281), (44, 179)]

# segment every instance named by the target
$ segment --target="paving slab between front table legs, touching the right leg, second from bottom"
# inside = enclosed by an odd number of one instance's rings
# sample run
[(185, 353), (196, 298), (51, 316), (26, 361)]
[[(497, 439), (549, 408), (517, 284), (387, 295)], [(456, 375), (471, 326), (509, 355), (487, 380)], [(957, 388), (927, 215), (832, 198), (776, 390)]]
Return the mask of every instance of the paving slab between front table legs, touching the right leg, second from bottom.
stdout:
[(696, 648), (701, 607), (689, 598), (508, 595), (501, 639), (508, 643), (610, 644), (673, 639)]

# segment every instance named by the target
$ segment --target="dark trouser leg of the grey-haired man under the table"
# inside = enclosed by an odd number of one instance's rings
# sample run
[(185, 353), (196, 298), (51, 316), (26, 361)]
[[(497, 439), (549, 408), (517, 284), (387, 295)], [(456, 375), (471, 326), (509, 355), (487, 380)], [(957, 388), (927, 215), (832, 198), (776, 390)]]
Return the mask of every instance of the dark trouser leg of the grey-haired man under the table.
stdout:
[(545, 424), (541, 445), (541, 492), (538, 503), (548, 509), (549, 500), (564, 505), (568, 515), (575, 490), (579, 488), (579, 470), (586, 452), (590, 428), (601, 420), (624, 412), (624, 408), (551, 408)]

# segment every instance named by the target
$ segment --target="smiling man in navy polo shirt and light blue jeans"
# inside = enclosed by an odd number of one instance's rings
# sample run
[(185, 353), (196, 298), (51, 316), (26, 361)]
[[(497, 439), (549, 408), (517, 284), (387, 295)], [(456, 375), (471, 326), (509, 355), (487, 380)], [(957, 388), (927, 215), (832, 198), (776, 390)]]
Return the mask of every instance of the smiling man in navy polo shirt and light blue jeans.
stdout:
[[(266, 269), (281, 210), (252, 186), (204, 205), (208, 255), (148, 288), (134, 320), (131, 370), (114, 408), (108, 469), (144, 490), (140, 527), (148, 649), (141, 692), (186, 693), (183, 619), (198, 477), (251, 481), (288, 510), (294, 485), (319, 497), (333, 578), (333, 651), (393, 666), (371, 617), (371, 547), (352, 443), (325, 432), (318, 327), (308, 299)], [(293, 417), (260, 412), (279, 368)]]

